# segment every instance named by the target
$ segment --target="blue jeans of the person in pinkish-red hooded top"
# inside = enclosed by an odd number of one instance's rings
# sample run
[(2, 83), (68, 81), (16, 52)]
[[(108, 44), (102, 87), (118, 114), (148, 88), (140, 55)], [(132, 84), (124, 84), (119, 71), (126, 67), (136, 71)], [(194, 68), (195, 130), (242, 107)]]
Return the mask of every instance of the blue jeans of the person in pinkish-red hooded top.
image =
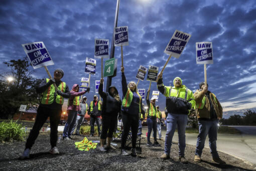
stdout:
[(68, 112), (68, 120), (63, 130), (64, 138), (71, 135), (71, 131), (76, 122), (76, 116), (77, 116), (77, 111), (75, 110), (68, 110), (67, 112)]

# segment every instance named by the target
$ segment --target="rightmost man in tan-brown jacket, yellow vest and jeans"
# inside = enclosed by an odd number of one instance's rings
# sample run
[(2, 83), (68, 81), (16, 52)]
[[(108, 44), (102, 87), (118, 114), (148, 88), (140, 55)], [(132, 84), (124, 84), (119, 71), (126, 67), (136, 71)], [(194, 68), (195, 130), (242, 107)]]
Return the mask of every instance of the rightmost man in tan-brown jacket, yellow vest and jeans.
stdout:
[(217, 152), (217, 130), (218, 120), (222, 118), (222, 107), (216, 96), (208, 91), (208, 84), (204, 82), (199, 84), (198, 90), (194, 93), (196, 101), (196, 114), (199, 125), (199, 134), (197, 136), (196, 152), (194, 160), (201, 161), (201, 154), (204, 148), (205, 138), (209, 136), (209, 146), (212, 154), (212, 160), (225, 164), (226, 162), (220, 159)]

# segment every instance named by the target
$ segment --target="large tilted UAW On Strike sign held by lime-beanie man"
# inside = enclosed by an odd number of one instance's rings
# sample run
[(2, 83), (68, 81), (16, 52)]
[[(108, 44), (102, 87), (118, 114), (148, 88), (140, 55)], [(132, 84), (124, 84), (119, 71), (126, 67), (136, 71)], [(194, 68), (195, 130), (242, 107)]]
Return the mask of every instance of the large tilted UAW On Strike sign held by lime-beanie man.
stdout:
[(190, 37), (190, 34), (176, 29), (164, 52), (179, 58)]

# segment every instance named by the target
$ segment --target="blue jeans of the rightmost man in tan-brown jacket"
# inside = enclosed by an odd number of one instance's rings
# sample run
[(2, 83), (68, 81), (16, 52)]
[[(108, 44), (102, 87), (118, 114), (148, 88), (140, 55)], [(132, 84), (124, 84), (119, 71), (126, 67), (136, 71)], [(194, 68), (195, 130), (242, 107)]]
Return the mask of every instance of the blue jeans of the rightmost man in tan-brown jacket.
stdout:
[(211, 150), (212, 157), (218, 157), (216, 140), (217, 140), (217, 130), (218, 130), (218, 120), (198, 120), (199, 125), (199, 134), (197, 136), (196, 143), (196, 155), (201, 156), (205, 138), (208, 134), (209, 137), (209, 146)]

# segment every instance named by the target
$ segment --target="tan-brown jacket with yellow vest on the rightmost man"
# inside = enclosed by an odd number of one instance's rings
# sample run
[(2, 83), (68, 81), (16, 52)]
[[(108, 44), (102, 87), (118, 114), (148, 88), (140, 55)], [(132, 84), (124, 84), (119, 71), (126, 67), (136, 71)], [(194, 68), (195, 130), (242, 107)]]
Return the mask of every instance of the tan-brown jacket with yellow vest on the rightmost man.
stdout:
[[(220, 105), (219, 100), (216, 98), (216, 96), (209, 92), (210, 99), (212, 102), (212, 105), (214, 107), (214, 111), (217, 115), (217, 117), (222, 118), (222, 106)], [(196, 104), (202, 103), (203, 98), (205, 97), (205, 104), (202, 109), (196, 108), (196, 115), (197, 118), (208, 118), (210, 119), (210, 101), (207, 98), (207, 96), (202, 92), (201, 89), (197, 89), (194, 93)]]

